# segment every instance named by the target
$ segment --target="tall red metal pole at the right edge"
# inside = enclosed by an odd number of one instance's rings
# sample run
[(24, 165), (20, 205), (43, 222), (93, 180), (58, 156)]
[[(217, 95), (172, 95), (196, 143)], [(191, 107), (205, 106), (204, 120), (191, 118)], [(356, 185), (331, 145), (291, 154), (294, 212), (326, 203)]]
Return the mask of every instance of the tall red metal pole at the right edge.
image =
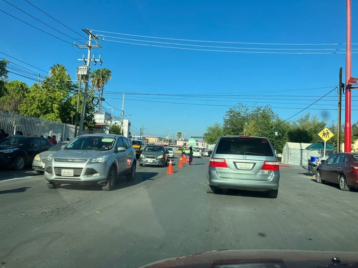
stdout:
[(352, 126), (351, 126), (351, 86), (349, 79), (352, 76), (351, 53), (351, 0), (346, 0), (347, 5), (347, 41), (346, 41), (346, 121), (344, 125), (344, 151), (351, 151)]

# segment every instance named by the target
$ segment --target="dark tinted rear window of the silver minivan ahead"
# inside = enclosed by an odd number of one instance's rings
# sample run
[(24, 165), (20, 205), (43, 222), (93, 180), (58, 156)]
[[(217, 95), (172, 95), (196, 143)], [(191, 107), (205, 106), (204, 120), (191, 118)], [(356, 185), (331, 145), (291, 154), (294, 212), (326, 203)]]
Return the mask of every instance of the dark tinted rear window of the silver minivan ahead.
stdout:
[(259, 138), (220, 139), (216, 153), (274, 156), (274, 152), (268, 141)]

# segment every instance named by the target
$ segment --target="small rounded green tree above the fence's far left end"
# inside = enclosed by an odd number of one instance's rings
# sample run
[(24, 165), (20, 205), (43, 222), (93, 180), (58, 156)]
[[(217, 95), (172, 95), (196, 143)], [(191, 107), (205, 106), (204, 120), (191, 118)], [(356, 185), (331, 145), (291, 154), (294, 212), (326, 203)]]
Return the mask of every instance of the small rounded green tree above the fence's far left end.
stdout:
[(6, 83), (6, 94), (0, 97), (0, 111), (12, 114), (19, 113), (19, 106), (23, 103), (28, 90), (26, 83), (21, 81), (14, 80)]

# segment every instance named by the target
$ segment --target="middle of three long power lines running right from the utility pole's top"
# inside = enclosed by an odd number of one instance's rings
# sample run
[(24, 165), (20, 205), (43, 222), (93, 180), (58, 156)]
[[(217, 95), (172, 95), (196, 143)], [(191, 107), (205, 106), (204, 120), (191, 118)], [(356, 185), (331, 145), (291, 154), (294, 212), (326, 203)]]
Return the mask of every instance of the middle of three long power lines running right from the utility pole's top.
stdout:
[[(175, 46), (188, 46), (188, 47), (200, 47), (200, 48), (214, 48), (214, 49), (252, 49), (252, 50), (303, 50), (303, 51), (320, 51), (320, 50), (346, 50), (346, 49), (285, 49), (285, 48), (237, 48), (237, 47), (221, 47), (221, 46), (204, 46), (204, 45), (192, 45), (192, 44), (180, 44), (180, 43), (170, 43), (170, 42), (158, 42), (158, 41), (150, 41), (150, 40), (141, 40), (141, 39), (132, 39), (132, 38), (123, 38), (123, 37), (115, 37), (115, 36), (107, 36), (103, 35), (103, 37), (121, 39), (121, 40), (129, 40), (129, 41), (139, 41), (139, 42), (147, 42), (147, 43), (155, 43), (155, 44), (164, 44), (164, 45), (175, 45)], [(105, 41), (106, 39), (104, 39)], [(107, 40), (112, 41), (112, 40)], [(352, 49), (358, 50), (358, 49)]]

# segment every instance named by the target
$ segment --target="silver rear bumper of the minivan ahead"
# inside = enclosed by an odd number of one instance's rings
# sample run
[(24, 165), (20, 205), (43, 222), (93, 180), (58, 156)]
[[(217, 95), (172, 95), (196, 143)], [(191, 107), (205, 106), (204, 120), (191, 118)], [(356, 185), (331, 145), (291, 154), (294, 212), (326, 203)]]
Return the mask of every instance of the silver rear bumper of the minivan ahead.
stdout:
[(270, 191), (279, 189), (280, 173), (275, 174), (270, 181), (258, 181), (249, 179), (221, 178), (216, 174), (216, 171), (209, 170), (207, 182), (209, 185), (223, 189)]

